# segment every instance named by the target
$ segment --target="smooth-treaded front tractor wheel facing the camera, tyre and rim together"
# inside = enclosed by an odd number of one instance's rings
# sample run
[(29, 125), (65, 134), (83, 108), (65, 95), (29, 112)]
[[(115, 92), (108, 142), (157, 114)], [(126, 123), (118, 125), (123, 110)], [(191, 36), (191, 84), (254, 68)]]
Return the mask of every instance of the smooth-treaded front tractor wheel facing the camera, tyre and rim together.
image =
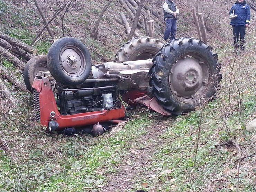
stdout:
[(66, 86), (83, 83), (91, 72), (91, 56), (86, 46), (73, 37), (63, 37), (52, 44), (47, 64), (54, 79)]

